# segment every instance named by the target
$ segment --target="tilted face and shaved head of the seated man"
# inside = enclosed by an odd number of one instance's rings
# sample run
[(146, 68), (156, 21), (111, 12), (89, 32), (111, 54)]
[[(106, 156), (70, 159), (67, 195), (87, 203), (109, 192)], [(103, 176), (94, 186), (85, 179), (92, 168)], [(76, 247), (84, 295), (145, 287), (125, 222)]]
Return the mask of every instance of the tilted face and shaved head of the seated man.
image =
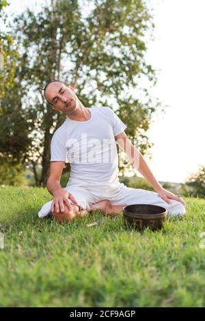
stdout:
[(49, 84), (45, 92), (46, 99), (53, 104), (54, 110), (67, 112), (70, 114), (77, 105), (77, 96), (74, 89), (68, 87), (59, 81)]

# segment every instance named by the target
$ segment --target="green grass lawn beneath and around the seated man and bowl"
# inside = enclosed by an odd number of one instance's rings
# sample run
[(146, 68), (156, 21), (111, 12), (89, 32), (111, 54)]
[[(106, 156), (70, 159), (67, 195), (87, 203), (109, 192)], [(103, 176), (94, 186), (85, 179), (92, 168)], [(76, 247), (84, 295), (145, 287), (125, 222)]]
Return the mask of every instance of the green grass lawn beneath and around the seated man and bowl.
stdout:
[(165, 228), (124, 229), (100, 211), (59, 224), (37, 216), (51, 195), (1, 187), (3, 307), (204, 307), (205, 201), (184, 198), (187, 216)]

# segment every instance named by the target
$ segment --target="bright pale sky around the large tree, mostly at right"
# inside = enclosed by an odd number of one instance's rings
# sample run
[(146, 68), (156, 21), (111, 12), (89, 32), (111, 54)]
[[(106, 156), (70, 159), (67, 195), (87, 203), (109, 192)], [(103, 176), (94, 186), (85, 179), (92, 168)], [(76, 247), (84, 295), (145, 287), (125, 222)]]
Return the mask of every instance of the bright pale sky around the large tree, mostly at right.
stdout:
[[(10, 12), (19, 13), (27, 5), (37, 8), (38, 0), (10, 0)], [(184, 182), (205, 164), (205, 1), (147, 0), (153, 8), (154, 41), (148, 44), (146, 60), (159, 70), (152, 89), (165, 105), (149, 136), (154, 142), (152, 161), (147, 162), (159, 181)]]

